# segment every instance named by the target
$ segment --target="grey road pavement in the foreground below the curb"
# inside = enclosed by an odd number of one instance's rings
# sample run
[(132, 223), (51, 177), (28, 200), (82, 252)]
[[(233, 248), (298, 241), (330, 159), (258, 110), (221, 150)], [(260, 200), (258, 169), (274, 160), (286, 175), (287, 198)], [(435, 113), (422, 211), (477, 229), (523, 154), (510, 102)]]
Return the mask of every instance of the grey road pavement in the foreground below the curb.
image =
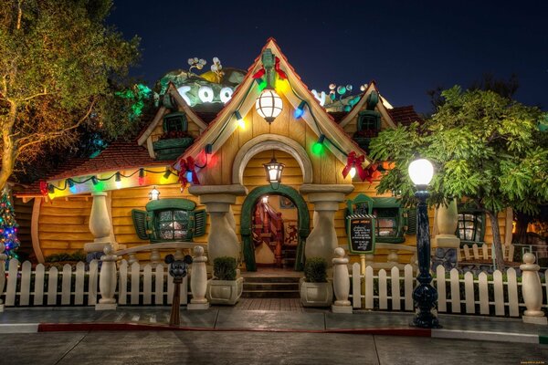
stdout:
[(97, 331), (3, 336), (2, 364), (544, 364), (548, 348), (298, 332)]

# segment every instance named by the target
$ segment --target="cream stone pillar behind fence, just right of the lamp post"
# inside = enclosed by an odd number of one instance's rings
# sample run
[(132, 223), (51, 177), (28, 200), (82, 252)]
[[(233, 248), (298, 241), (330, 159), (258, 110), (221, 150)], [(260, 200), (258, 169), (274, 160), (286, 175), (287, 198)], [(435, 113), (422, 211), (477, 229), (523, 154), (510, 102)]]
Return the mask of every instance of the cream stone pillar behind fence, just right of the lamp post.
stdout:
[(458, 264), (458, 249), (460, 238), (455, 235), (458, 224), (457, 201), (453, 199), (448, 206), (440, 204), (437, 207), (437, 235), (432, 240), (434, 256), (432, 270), (436, 272), (438, 265), (447, 271), (456, 268)]

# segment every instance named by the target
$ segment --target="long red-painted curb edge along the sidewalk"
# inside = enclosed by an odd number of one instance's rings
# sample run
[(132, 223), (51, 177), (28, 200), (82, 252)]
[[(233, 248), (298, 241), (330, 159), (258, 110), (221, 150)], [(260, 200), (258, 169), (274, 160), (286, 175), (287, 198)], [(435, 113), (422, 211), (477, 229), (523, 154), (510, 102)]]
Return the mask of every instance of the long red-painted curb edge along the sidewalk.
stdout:
[(194, 328), (168, 325), (144, 325), (133, 323), (40, 323), (38, 332), (81, 332), (101, 330), (186, 330), (215, 332), (303, 332), (344, 333), (354, 335), (385, 335), (431, 337), (431, 330), (424, 328), (352, 328), (352, 329), (291, 329), (291, 328)]

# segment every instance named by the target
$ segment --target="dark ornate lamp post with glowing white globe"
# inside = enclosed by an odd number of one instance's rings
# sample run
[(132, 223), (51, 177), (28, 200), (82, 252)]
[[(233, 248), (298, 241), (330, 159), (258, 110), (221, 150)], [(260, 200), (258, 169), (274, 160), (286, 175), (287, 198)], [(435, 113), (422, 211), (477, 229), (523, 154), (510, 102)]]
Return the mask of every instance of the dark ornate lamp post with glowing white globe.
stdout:
[(430, 275), (430, 232), (428, 227), (427, 192), (428, 183), (434, 176), (434, 167), (426, 159), (409, 164), (409, 177), (416, 186), (416, 254), (418, 256), (418, 286), (413, 291), (415, 307), (418, 308), (411, 326), (419, 328), (441, 328), (437, 317), (432, 313), (436, 307), (437, 290), (431, 286)]

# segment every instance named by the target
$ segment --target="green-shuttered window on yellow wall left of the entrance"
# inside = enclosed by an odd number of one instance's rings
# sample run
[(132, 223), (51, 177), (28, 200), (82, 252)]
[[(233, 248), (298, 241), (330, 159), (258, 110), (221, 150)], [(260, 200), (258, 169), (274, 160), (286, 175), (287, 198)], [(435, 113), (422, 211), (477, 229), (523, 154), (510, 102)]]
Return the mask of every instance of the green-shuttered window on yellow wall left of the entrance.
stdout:
[(132, 210), (135, 232), (151, 242), (192, 241), (205, 235), (205, 210), (186, 199), (161, 199), (146, 204), (146, 211)]

